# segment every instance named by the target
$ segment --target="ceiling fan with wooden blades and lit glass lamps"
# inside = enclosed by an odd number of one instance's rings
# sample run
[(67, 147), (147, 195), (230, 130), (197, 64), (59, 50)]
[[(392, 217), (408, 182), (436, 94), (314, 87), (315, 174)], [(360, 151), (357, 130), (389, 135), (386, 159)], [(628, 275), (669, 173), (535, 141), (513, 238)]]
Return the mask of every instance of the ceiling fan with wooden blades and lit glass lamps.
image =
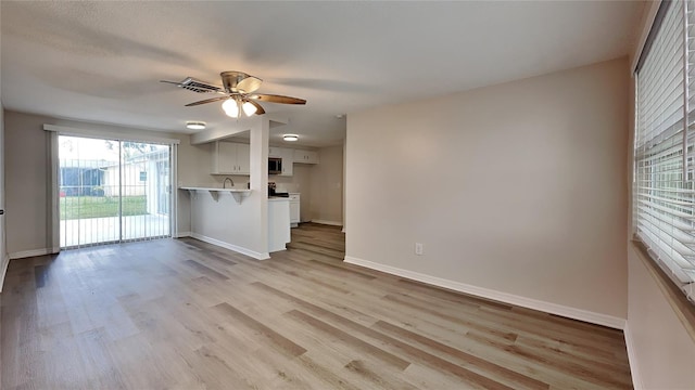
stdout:
[(255, 76), (248, 75), (243, 72), (223, 72), (219, 74), (222, 77), (222, 87), (214, 86), (210, 82), (197, 80), (192, 77), (187, 77), (184, 81), (167, 81), (161, 80), (161, 82), (173, 83), (179, 88), (198, 92), (198, 93), (212, 93), (217, 96), (205, 99), (199, 102), (189, 103), (186, 106), (195, 106), (200, 104), (207, 104), (224, 101), (222, 108), (227, 116), (232, 118), (239, 118), (243, 112), (247, 116), (263, 115), (265, 109), (261, 106), (260, 102), (280, 103), (280, 104), (306, 104), (306, 101), (298, 98), (254, 93), (260, 87), (263, 80)]

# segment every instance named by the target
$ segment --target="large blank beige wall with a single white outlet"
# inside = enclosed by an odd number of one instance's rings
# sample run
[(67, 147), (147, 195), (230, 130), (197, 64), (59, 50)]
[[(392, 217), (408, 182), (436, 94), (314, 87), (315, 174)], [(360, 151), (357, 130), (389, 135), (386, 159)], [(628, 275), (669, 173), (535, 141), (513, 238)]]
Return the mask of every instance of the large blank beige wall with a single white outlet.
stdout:
[(620, 58), (350, 114), (346, 259), (620, 326), (628, 82)]

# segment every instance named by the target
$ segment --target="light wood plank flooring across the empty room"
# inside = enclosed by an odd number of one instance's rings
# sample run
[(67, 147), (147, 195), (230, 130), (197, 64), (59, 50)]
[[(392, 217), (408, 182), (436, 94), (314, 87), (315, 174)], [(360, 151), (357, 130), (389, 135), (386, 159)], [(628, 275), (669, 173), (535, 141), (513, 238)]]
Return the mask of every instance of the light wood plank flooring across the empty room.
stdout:
[(626, 389), (623, 335), (345, 264), (161, 239), (12, 261), (2, 389)]

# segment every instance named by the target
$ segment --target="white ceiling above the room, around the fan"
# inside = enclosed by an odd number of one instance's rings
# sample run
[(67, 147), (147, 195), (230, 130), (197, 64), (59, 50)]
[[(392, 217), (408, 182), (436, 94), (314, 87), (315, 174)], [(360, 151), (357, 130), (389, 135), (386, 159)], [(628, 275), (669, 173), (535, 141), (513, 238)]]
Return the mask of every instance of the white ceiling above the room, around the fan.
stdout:
[(340, 144), (350, 114), (626, 55), (642, 2), (0, 2), (5, 108), (174, 132), (219, 103), (159, 80), (264, 80), (274, 129)]

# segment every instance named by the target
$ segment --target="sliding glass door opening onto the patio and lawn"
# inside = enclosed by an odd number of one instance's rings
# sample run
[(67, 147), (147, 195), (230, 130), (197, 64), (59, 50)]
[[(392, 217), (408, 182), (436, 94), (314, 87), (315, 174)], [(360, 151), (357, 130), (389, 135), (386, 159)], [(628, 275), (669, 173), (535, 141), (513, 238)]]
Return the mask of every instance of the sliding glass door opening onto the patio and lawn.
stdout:
[(169, 145), (59, 136), (61, 248), (170, 236)]

